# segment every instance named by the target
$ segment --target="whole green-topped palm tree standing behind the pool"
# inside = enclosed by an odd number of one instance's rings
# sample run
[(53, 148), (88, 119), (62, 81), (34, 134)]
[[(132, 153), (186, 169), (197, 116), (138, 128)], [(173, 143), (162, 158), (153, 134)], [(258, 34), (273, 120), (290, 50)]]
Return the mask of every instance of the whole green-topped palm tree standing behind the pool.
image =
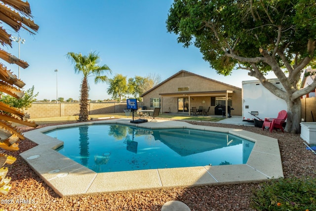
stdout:
[(100, 57), (95, 52), (90, 52), (87, 56), (81, 53), (68, 52), (67, 58), (74, 64), (75, 73), (82, 72), (83, 78), (80, 90), (80, 112), (79, 122), (88, 121), (88, 97), (89, 97), (89, 84), (87, 78), (94, 76), (94, 83), (107, 82), (109, 78), (102, 76), (106, 71), (112, 73), (107, 65), (99, 66), (98, 62)]

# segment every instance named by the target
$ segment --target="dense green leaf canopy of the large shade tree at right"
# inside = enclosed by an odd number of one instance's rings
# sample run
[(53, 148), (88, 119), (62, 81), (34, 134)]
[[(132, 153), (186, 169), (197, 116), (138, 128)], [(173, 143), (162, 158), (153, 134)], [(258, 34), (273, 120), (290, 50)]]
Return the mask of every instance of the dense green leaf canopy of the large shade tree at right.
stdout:
[[(166, 23), (178, 42), (186, 47), (194, 43), (212, 68), (229, 75), (237, 64), (256, 63), (263, 73), (271, 71), (263, 60), (245, 59), (262, 57), (259, 48), (272, 55), (277, 46), (288, 61), (306, 55), (315, 60), (306, 48), (308, 39), (316, 39), (315, 16), (312, 0), (174, 0)], [(279, 26), (282, 36), (277, 42)], [(224, 58), (232, 53), (236, 56)], [(284, 67), (281, 58), (276, 59)]]

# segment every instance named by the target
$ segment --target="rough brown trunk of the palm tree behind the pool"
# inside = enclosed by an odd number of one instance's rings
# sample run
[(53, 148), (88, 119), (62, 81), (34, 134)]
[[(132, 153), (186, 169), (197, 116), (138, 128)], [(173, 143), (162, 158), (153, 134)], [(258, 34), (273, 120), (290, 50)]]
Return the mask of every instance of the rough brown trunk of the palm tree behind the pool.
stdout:
[(87, 78), (83, 77), (81, 83), (81, 96), (80, 96), (80, 112), (79, 112), (79, 122), (86, 122), (88, 121), (88, 82)]

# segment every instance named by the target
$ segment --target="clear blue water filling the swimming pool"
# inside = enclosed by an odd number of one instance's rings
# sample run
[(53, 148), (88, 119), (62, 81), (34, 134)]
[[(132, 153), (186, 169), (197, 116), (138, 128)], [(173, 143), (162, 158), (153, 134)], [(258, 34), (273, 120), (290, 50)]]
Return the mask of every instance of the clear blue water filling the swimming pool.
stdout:
[(228, 133), (112, 124), (45, 134), (64, 141), (59, 153), (96, 172), (245, 164), (254, 145)]

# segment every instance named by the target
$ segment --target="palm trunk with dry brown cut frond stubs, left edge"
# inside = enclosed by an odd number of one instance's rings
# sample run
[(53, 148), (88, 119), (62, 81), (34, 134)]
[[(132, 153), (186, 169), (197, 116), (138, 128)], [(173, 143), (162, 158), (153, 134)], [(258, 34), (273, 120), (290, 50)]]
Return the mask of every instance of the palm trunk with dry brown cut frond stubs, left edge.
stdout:
[[(22, 28), (35, 34), (39, 26), (32, 20), (30, 4), (22, 0), (0, 0), (0, 24), (5, 23), (15, 32)], [(12, 47), (11, 35), (0, 26), (0, 44)], [(27, 68), (29, 64), (0, 48), (0, 59)], [(24, 92), (20, 89), (25, 85), (10, 70), (0, 63), (0, 92), (15, 98), (22, 98)], [(37, 127), (37, 124), (24, 119), (25, 114), (19, 109), (0, 102), (0, 148), (14, 152), (19, 150), (18, 141), (24, 139), (22, 132), (11, 123)], [(0, 153), (0, 195), (6, 194), (11, 188), (10, 177), (5, 177), (8, 169), (5, 164), (14, 163), (16, 158)]]

